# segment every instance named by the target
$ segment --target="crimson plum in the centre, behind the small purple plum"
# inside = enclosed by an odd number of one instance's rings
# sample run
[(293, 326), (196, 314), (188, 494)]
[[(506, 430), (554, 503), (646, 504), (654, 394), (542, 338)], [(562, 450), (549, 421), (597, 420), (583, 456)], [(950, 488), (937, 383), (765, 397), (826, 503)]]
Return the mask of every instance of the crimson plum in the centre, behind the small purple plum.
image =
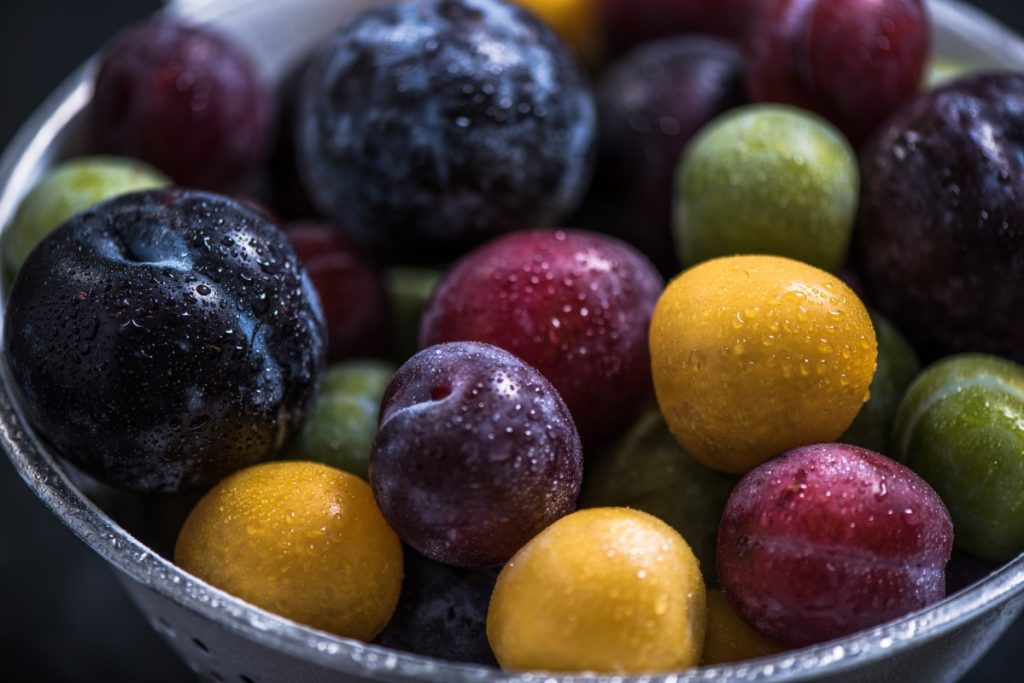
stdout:
[(664, 282), (640, 253), (581, 230), (527, 230), (464, 256), (437, 286), (422, 346), (473, 340), (537, 368), (586, 442), (626, 427), (650, 392), (647, 327)]

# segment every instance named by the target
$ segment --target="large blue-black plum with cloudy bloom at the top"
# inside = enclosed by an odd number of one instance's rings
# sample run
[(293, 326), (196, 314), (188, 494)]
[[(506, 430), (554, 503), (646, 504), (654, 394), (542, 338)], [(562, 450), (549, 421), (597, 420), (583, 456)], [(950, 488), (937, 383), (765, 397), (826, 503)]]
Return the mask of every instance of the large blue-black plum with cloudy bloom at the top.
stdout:
[(593, 97), (555, 34), (498, 0), (372, 9), (305, 80), (299, 168), (364, 248), (428, 261), (550, 225), (590, 180)]

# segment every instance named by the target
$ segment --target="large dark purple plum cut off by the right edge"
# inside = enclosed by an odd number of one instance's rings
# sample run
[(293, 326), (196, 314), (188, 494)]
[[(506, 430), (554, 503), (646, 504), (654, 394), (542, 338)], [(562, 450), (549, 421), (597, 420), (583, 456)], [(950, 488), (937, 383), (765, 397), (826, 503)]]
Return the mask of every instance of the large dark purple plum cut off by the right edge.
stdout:
[(869, 300), (926, 357), (1024, 360), (1024, 76), (922, 95), (863, 168), (855, 240)]

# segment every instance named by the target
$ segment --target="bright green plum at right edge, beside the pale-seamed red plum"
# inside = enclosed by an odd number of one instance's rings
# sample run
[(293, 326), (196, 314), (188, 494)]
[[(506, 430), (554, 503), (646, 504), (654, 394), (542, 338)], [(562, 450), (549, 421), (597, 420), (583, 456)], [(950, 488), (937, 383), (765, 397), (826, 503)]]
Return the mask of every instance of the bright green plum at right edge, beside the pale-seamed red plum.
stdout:
[(1024, 367), (982, 354), (937, 362), (900, 403), (893, 441), (945, 501), (962, 549), (1024, 552)]

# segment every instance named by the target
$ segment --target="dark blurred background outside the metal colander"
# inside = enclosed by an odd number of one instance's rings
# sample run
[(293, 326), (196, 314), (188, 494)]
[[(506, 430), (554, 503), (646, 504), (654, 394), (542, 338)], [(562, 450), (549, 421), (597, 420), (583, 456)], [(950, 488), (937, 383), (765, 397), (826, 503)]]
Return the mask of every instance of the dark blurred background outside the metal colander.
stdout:
[[(637, 0), (643, 2), (643, 0)], [(154, 0), (0, 0), (0, 147), (57, 83)], [(976, 0), (1024, 33), (1024, 2)], [(1024, 620), (965, 679), (1019, 680)], [(0, 458), (0, 665), (5, 680), (187, 681), (194, 677)]]

